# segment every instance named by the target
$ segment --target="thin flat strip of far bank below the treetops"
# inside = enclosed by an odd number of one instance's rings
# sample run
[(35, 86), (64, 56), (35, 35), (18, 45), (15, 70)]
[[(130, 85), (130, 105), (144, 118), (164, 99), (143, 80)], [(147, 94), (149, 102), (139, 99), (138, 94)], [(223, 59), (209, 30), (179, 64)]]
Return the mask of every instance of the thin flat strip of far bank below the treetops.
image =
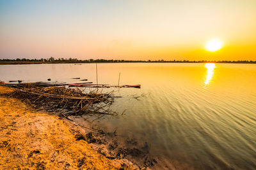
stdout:
[(38, 61), (1, 61), (0, 65), (15, 65), (15, 64), (88, 64), (88, 63), (228, 63), (228, 64), (256, 64), (256, 61), (47, 61), (47, 62), (38, 62)]

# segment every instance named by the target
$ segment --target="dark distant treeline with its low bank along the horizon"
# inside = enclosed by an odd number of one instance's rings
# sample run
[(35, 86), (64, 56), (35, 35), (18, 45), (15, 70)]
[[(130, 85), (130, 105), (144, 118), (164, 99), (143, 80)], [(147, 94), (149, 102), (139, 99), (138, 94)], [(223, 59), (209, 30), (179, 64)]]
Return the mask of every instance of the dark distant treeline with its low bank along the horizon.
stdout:
[(0, 59), (0, 64), (42, 64), (42, 63), (90, 63), (90, 62), (216, 62), (216, 63), (252, 63), (256, 64), (256, 60), (106, 60), (106, 59), (88, 59), (88, 60), (79, 60), (79, 59), (54, 59), (50, 57), (49, 59)]

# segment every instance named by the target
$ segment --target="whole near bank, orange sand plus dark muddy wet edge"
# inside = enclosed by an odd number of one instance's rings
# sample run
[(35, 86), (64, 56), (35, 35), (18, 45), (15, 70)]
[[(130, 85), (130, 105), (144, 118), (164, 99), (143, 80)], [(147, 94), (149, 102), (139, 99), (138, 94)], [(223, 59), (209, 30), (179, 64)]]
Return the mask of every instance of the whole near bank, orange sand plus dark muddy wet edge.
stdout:
[(147, 141), (95, 129), (79, 115), (39, 111), (12, 92), (0, 85), (0, 169), (193, 169), (152, 155)]

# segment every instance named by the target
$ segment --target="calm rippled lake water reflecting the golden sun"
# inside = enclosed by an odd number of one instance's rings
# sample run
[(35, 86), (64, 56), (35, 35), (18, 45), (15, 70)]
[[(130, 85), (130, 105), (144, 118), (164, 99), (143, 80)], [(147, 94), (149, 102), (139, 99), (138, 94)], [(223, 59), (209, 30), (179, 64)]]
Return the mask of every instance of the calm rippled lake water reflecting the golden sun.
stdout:
[[(100, 121), (109, 131), (147, 141), (164, 166), (256, 169), (256, 64), (98, 64), (99, 83), (119, 73), (141, 89), (116, 89), (113, 110), (126, 111)], [(95, 64), (0, 66), (2, 81), (72, 77), (95, 82)]]

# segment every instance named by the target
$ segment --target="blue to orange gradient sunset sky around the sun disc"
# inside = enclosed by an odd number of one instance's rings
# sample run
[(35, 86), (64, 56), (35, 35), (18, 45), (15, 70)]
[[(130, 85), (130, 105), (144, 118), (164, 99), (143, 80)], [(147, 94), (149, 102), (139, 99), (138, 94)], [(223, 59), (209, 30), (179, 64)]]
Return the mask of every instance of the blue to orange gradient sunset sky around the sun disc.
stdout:
[(0, 0), (0, 59), (49, 57), (256, 60), (256, 1)]

